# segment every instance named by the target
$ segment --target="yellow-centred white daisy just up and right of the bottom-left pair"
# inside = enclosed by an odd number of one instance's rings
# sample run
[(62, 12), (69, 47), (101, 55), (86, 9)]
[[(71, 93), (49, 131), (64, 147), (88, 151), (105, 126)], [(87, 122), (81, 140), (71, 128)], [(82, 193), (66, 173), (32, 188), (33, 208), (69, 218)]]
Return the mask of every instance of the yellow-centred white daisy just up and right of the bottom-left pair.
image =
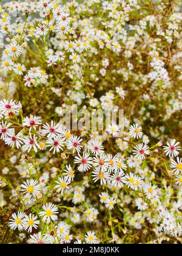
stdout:
[(43, 216), (43, 222), (49, 223), (50, 220), (56, 221), (58, 219), (58, 216), (56, 216), (56, 214), (58, 214), (58, 207), (56, 207), (56, 205), (49, 203), (43, 205), (42, 208), (44, 211), (40, 212), (39, 215)]

